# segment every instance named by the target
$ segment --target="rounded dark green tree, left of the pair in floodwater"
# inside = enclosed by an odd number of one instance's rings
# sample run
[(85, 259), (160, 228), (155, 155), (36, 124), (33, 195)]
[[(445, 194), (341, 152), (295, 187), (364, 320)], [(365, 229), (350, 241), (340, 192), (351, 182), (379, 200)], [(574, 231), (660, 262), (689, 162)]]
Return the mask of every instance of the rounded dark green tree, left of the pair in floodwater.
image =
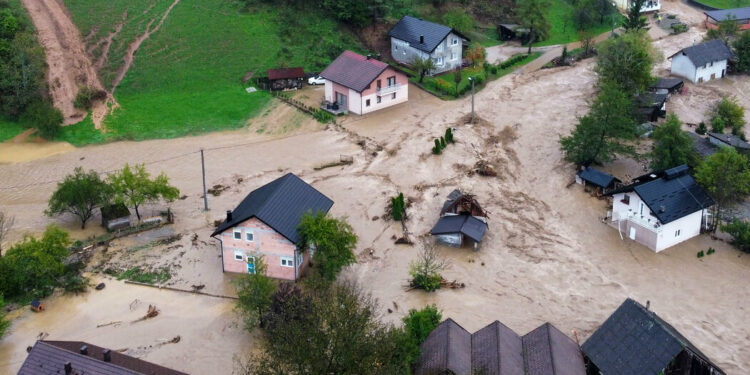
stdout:
[(83, 168), (76, 167), (73, 174), (57, 184), (45, 214), (73, 214), (81, 221), (81, 229), (85, 229), (95, 210), (107, 203), (109, 194), (109, 185), (99, 178), (98, 173), (93, 170), (84, 172)]

